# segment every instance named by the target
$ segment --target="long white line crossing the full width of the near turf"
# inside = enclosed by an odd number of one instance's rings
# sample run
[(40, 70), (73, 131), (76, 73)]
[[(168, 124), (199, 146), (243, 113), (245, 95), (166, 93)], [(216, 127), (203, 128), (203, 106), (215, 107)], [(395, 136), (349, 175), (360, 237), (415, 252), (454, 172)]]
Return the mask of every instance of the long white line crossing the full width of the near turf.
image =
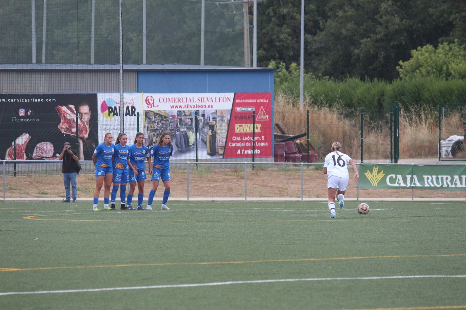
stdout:
[(218, 286), (230, 284), (256, 284), (256, 283), (276, 283), (276, 282), (297, 282), (297, 281), (339, 281), (339, 280), (383, 280), (383, 279), (410, 279), (410, 278), (464, 278), (466, 275), (417, 275), (417, 276), (391, 276), (391, 277), (334, 277), (334, 278), (302, 278), (302, 279), (271, 279), (271, 280), (248, 280), (248, 281), (227, 281), (211, 283), (192, 283), (192, 284), (165, 284), (165, 285), (148, 285), (148, 286), (128, 286), (128, 287), (108, 287), (100, 289), (82, 289), (82, 290), (36, 290), (29, 292), (3, 292), (0, 296), (5, 295), (24, 295), (24, 294), (52, 294), (52, 293), (82, 293), (82, 292), (101, 292), (109, 290), (146, 290), (146, 289), (166, 289), (179, 287), (199, 287), (199, 286)]

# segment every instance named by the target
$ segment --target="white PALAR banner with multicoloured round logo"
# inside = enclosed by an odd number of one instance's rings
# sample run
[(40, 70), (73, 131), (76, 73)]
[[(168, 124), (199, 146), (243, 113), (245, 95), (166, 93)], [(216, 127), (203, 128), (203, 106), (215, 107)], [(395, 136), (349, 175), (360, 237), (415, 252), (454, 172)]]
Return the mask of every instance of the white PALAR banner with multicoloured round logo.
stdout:
[[(113, 134), (116, 140), (120, 132), (120, 94), (98, 93), (97, 114), (99, 119), (99, 141), (105, 133)], [(137, 133), (137, 113), (139, 113), (139, 130), (143, 130), (143, 94), (140, 92), (123, 93), (124, 132), (128, 136), (128, 145), (133, 145)]]

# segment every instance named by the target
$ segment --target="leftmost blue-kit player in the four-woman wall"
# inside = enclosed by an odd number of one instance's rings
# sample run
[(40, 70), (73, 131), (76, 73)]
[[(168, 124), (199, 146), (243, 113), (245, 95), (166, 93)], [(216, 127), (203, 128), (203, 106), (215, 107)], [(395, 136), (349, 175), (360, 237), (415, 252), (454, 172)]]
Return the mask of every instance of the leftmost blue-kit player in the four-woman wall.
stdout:
[(104, 186), (103, 210), (112, 210), (109, 207), (110, 185), (112, 185), (113, 179), (112, 157), (115, 152), (115, 145), (112, 142), (113, 135), (107, 132), (103, 142), (97, 145), (92, 155), (92, 162), (96, 166), (96, 190), (94, 191), (94, 205), (92, 207), (94, 211), (99, 211), (97, 203), (102, 185)]

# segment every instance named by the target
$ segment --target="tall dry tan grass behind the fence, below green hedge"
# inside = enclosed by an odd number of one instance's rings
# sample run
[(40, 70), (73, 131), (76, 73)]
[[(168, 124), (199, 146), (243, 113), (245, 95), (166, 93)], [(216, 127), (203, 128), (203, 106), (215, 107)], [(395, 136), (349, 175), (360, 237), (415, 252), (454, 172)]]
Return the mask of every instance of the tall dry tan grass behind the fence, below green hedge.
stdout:
[[(311, 100), (304, 98), (304, 111), (299, 108), (299, 99), (286, 93), (275, 96), (275, 123), (288, 134), (306, 132), (306, 110), (309, 110), (310, 141), (319, 158), (324, 158), (334, 141), (343, 145), (343, 152), (352, 158), (361, 156), (359, 112), (349, 112), (342, 106), (312, 106)], [(445, 116), (442, 125), (442, 139), (456, 134), (462, 135), (462, 122), (459, 113)], [(390, 159), (390, 116), (388, 113), (365, 113), (363, 117), (363, 156), (364, 160)], [(439, 120), (438, 112), (415, 111), (403, 113), (399, 124), (400, 158), (438, 157)], [(275, 132), (278, 130), (275, 129)], [(305, 139), (305, 138), (303, 138)], [(460, 155), (461, 156), (461, 155)], [(463, 157), (459, 158), (465, 158)]]

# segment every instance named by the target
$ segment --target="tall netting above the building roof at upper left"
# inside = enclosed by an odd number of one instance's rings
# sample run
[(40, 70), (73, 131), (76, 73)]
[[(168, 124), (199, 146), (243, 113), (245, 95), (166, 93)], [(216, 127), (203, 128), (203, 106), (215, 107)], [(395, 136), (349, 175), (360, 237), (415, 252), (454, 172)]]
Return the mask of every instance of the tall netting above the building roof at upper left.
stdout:
[[(2, 1), (0, 63), (118, 64), (118, 3)], [(245, 65), (245, 38), (249, 44), (252, 27), (244, 10), (238, 2), (206, 1), (205, 65)], [(200, 64), (201, 1), (146, 1), (145, 14), (144, 34), (143, 1), (122, 1), (123, 63)]]

